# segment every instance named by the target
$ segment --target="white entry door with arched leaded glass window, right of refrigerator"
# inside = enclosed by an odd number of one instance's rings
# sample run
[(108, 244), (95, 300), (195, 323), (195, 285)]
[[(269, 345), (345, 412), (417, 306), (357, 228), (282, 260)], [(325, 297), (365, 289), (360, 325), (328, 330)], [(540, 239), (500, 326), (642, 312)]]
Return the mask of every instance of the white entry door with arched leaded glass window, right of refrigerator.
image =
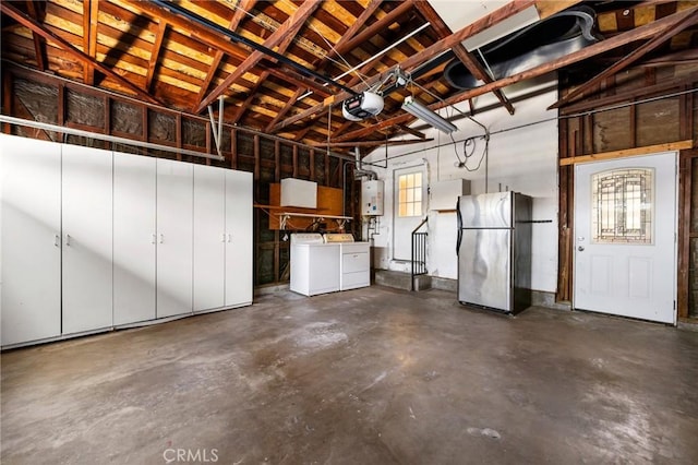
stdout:
[(575, 167), (574, 307), (675, 323), (676, 154)]

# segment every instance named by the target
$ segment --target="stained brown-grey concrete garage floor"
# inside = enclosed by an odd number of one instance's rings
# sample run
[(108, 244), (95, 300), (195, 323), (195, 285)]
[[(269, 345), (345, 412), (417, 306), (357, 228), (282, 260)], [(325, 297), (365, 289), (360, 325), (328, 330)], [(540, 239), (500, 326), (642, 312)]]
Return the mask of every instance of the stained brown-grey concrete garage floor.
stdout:
[(385, 287), (2, 355), (8, 464), (698, 463), (698, 333)]

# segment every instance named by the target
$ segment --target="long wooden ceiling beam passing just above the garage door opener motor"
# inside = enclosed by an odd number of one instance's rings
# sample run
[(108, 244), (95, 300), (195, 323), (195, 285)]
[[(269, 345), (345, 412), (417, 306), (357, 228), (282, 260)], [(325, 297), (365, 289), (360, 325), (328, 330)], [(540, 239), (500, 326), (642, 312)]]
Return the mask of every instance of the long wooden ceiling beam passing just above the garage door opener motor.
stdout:
[[(443, 40), (437, 41), (436, 44), (426, 47), (424, 50), (412, 55), (411, 57), (409, 57), (407, 60), (405, 60), (402, 63), (400, 63), (400, 68), (404, 70), (409, 71), (411, 68), (414, 68), (421, 63), (423, 63), (424, 61), (428, 61), (429, 59), (431, 59), (432, 57), (435, 57), (437, 55), (440, 55), (441, 52), (448, 50), (453, 47), (455, 47), (456, 45), (460, 44), (462, 40), (465, 40), (466, 38), (478, 34), (489, 27), (491, 27), (494, 24), (497, 24), (517, 13), (520, 13), (521, 11), (530, 8), (530, 7), (535, 7), (538, 9), (539, 12), (539, 16), (541, 20), (544, 20), (545, 17), (552, 16), (553, 14), (563, 11), (567, 8), (569, 8), (573, 4), (579, 3), (580, 0), (568, 0), (568, 1), (547, 1), (547, 0), (514, 0), (510, 1), (509, 3), (505, 4), (504, 7), (495, 10), (494, 12), (492, 12), (491, 14), (476, 21), (474, 23), (457, 31), (456, 33), (454, 33), (453, 35), (444, 38)], [(383, 79), (387, 78), (395, 68), (389, 69), (384, 71), (383, 73), (380, 73), (377, 75), (371, 76), (366, 80), (366, 82), (361, 86), (362, 88), (365, 87), (365, 85), (373, 85), (378, 83), (380, 81), (382, 81)], [(498, 81), (497, 81), (498, 82)], [(494, 83), (491, 83), (489, 85), (492, 85)], [(494, 88), (500, 88), (497, 86), (492, 86), (488, 90), (489, 92), (492, 92), (492, 90)], [(360, 92), (360, 90), (359, 90)], [(324, 110), (325, 108), (327, 108), (327, 106), (329, 105), (334, 105), (336, 103), (339, 102), (344, 102), (345, 99), (349, 98), (350, 95), (347, 92), (340, 92), (337, 95), (334, 96), (334, 98), (332, 99), (325, 99), (325, 102), (323, 102), (320, 105), (314, 106), (313, 108), (309, 108), (305, 111), (301, 111), (298, 115), (294, 115), (281, 122), (279, 122), (278, 124), (276, 124), (273, 129), (273, 131), (278, 131), (282, 128), (286, 128), (290, 124), (293, 124), (296, 121), (300, 121), (304, 118), (308, 118), (311, 115), (314, 115), (318, 111)], [(400, 122), (405, 122), (405, 121), (400, 121)]]

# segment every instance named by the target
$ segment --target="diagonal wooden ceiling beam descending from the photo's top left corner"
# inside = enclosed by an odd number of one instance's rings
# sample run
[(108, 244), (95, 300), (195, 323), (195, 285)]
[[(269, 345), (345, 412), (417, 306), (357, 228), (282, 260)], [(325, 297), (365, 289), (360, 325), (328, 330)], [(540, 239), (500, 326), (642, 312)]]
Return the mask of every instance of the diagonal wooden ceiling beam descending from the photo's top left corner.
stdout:
[(143, 98), (144, 100), (146, 100), (146, 102), (148, 102), (151, 104), (163, 105), (157, 98), (153, 97), (151, 94), (148, 94), (147, 92), (145, 92), (144, 90), (142, 90), (137, 85), (135, 85), (132, 82), (125, 80), (120, 74), (118, 74), (116, 71), (113, 71), (110, 68), (105, 67), (99, 61), (93, 60), (88, 55), (86, 55), (83, 51), (81, 51), (80, 49), (73, 47), (71, 44), (65, 41), (63, 38), (61, 38), (59, 35), (57, 35), (52, 31), (47, 29), (41, 24), (37, 23), (34, 19), (29, 17), (28, 15), (24, 14), (23, 12), (21, 12), (16, 8), (12, 7), (10, 4), (10, 2), (7, 2), (7, 1), (0, 2), (0, 11), (2, 11), (3, 14), (7, 14), (8, 16), (12, 17), (13, 20), (17, 21), (23, 26), (28, 27), (29, 31), (32, 31), (33, 33), (36, 33), (39, 36), (44, 37), (44, 39), (55, 43), (61, 49), (63, 49), (65, 52), (70, 53), (72, 57), (74, 57), (81, 63), (83, 63), (83, 65), (92, 65), (92, 67), (94, 67), (96, 70), (98, 70), (100, 73), (103, 73), (107, 78), (110, 78), (110, 79), (117, 81), (119, 84), (123, 85), (125, 88), (128, 88), (129, 91), (133, 92), (135, 95), (137, 95), (139, 97)]

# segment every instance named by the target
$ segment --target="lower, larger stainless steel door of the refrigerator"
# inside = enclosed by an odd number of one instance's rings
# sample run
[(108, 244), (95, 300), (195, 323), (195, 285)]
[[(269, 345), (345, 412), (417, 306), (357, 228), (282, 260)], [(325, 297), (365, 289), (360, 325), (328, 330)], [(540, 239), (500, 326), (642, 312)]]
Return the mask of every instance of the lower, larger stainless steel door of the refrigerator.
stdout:
[(458, 300), (512, 311), (510, 229), (462, 229)]

